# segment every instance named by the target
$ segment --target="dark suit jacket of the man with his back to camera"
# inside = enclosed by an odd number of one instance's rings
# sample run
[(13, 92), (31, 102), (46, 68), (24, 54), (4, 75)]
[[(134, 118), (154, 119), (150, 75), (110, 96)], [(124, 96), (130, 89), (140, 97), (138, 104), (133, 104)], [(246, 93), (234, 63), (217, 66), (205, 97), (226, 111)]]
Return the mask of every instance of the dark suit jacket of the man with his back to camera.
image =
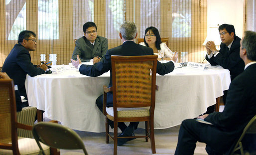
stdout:
[[(152, 48), (145, 47), (136, 44), (134, 41), (126, 41), (122, 45), (108, 50), (104, 56), (103, 61), (100, 61), (94, 65), (81, 65), (79, 71), (81, 74), (87, 76), (99, 76), (110, 70), (110, 83), (109, 87), (112, 87), (112, 70), (111, 70), (111, 55), (124, 55), (124, 56), (135, 56), (135, 55), (153, 55)], [(157, 61), (156, 73), (164, 75), (170, 73), (174, 69), (173, 62), (161, 63)], [(113, 107), (113, 94), (107, 94), (107, 106)]]

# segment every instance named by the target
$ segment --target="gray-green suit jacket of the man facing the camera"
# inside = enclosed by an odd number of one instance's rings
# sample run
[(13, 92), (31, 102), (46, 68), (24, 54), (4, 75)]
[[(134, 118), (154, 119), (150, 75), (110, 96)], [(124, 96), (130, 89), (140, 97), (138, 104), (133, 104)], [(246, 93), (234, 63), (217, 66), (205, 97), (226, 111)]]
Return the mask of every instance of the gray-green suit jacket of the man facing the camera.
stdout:
[(97, 36), (95, 39), (94, 47), (85, 36), (76, 40), (76, 46), (72, 54), (72, 59), (77, 60), (76, 56), (79, 55), (82, 62), (89, 62), (96, 56), (103, 58), (108, 50), (108, 39), (102, 36)]

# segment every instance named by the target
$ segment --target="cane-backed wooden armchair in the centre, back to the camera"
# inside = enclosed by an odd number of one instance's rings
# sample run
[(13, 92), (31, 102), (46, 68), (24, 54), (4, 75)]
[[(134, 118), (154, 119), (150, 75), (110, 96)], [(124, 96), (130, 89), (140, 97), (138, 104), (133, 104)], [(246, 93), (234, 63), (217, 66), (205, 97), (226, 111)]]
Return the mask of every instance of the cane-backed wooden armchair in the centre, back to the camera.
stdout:
[[(118, 122), (145, 122), (145, 136), (155, 154), (154, 108), (157, 55), (111, 56), (113, 87), (104, 86), (103, 113), (106, 116), (106, 142), (114, 140), (117, 155)], [(113, 107), (106, 108), (107, 92), (113, 91)], [(109, 120), (114, 121), (114, 137), (109, 134)], [(149, 130), (148, 130), (149, 126)]]

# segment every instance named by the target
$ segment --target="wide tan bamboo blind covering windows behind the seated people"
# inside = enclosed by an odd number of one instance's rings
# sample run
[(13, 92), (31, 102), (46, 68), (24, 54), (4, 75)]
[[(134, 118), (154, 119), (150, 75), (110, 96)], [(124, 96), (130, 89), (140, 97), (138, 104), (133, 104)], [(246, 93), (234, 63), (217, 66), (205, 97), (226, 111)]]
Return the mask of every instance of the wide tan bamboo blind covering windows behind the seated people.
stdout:
[[(9, 1), (7, 5), (6, 1)], [(56, 33), (57, 38), (39, 39), (39, 35), (43, 35), (39, 29), (48, 24), (40, 24), (43, 19), (38, 19), (38, 12), (42, 9), (38, 7), (39, 2), (44, 4), (42, 7), (48, 5), (47, 8), (56, 7), (51, 9), (58, 10), (57, 16), (48, 13), (43, 17), (55, 17), (57, 24), (50, 26), (58, 26), (58, 29), (47, 35)], [(95, 22), (98, 35), (108, 38), (109, 49), (122, 44), (119, 26), (130, 20), (138, 28), (137, 38), (143, 38), (146, 27), (157, 27), (162, 38), (169, 38), (169, 48), (179, 53), (179, 62), (201, 62), (206, 54), (202, 43), (207, 30), (207, 0), (0, 0), (0, 66), (17, 43), (17, 38), (7, 36), (24, 5), (25, 27), (37, 34), (37, 49), (30, 52), (34, 64), (40, 63), (40, 54), (46, 54), (46, 61), (49, 61), (51, 53), (57, 54), (57, 64), (68, 64), (75, 47), (74, 39), (83, 36), (82, 27), (87, 21)], [(174, 23), (177, 16), (189, 25)], [(179, 31), (184, 31), (183, 27), (191, 32), (187, 36), (175, 37), (174, 33), (181, 34)], [(20, 30), (23, 29), (19, 29), (16, 35)]]

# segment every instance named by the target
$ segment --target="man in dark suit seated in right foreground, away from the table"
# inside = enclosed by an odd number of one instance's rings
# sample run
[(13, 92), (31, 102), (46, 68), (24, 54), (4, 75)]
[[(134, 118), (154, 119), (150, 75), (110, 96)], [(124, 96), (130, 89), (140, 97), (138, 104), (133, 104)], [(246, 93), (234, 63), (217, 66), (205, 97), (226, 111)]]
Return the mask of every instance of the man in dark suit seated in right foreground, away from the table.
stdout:
[[(245, 62), (245, 71), (230, 84), (227, 103), (223, 112), (199, 116), (213, 125), (184, 120), (179, 130), (175, 155), (193, 155), (196, 143), (206, 143), (208, 155), (230, 155), (235, 142), (248, 122), (256, 115), (256, 32), (246, 31), (240, 41), (240, 57)], [(253, 136), (253, 135), (252, 135)], [(249, 147), (256, 153), (256, 137), (248, 137)], [(244, 138), (245, 140), (245, 138)], [(246, 145), (243, 145), (244, 147)]]

